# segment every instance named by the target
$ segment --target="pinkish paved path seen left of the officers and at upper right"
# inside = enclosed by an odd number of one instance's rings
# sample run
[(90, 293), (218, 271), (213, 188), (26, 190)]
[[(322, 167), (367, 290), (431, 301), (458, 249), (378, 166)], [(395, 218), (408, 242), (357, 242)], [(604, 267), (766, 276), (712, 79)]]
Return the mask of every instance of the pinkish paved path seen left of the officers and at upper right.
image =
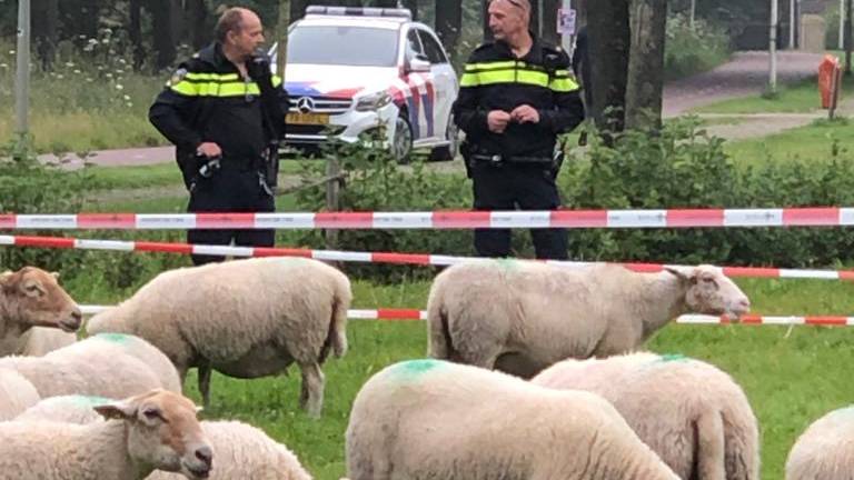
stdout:
[[(793, 83), (815, 76), (822, 54), (781, 52), (778, 79), (781, 83)], [(668, 83), (664, 89), (664, 114), (674, 117), (704, 104), (722, 100), (757, 94), (764, 91), (768, 79), (767, 52), (738, 52), (732, 61), (709, 72)], [(781, 118), (765, 119), (756, 129), (747, 124), (716, 126), (709, 129), (724, 138), (761, 137), (788, 128), (806, 124), (812, 119)], [(92, 152), (88, 162), (99, 166), (145, 166), (170, 162), (175, 159), (172, 147), (106, 150)], [(57, 161), (53, 156), (41, 156), (44, 161)], [(82, 160), (75, 154), (66, 158), (67, 168), (78, 168)]]

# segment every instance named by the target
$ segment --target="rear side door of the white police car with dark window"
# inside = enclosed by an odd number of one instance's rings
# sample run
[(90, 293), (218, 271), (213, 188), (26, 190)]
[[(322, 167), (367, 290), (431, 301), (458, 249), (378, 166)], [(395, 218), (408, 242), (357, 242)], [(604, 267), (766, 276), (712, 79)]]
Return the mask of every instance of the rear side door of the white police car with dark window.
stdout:
[(438, 140), (445, 140), (450, 121), (450, 111), (454, 100), (457, 98), (457, 74), (441, 48), (441, 43), (436, 36), (426, 29), (418, 29), (418, 36), (421, 39), (424, 52), (427, 60), (430, 61), (430, 90), (428, 98), (430, 103), (429, 116), (427, 118), (429, 131), (428, 137), (435, 137)]

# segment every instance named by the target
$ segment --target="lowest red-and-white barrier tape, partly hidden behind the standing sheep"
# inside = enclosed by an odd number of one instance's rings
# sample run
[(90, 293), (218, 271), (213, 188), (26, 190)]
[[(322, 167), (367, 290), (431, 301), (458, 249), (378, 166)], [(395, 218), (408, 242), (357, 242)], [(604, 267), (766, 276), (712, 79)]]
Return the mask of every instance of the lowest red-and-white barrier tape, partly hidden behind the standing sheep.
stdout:
[[(89, 316), (109, 310), (110, 308), (112, 307), (80, 306), (83, 314)], [(414, 309), (348, 310), (347, 317), (354, 320), (427, 320), (427, 311)], [(676, 323), (851, 327), (854, 326), (854, 317), (766, 317), (747, 314), (739, 320), (728, 320), (724, 317), (686, 314), (677, 318)]]

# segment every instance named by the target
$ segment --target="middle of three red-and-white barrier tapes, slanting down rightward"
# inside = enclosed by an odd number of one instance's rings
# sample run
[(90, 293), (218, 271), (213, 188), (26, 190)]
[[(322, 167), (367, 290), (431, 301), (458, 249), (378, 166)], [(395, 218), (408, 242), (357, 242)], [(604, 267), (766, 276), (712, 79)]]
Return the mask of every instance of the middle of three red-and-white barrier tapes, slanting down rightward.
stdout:
[[(93, 240), (63, 237), (27, 237), (0, 236), (0, 246), (59, 248), (78, 250), (112, 250), (126, 252), (160, 252), (182, 254), (216, 254), (232, 257), (304, 257), (315, 260), (416, 264), (447, 267), (463, 261), (474, 260), (473, 257), (439, 256), (430, 253), (395, 253), (395, 252), (358, 252), (341, 250), (309, 250), (292, 248), (267, 247), (229, 247), (211, 244), (143, 242), (122, 240)], [(546, 263), (579, 268), (593, 262), (573, 262), (546, 260)], [(685, 267), (664, 263), (624, 262), (623, 267), (638, 272), (658, 272), (666, 267)], [(854, 280), (853, 270), (798, 270), (764, 267), (718, 267), (723, 273), (732, 278), (772, 278), (772, 279), (817, 279), (817, 280)]]

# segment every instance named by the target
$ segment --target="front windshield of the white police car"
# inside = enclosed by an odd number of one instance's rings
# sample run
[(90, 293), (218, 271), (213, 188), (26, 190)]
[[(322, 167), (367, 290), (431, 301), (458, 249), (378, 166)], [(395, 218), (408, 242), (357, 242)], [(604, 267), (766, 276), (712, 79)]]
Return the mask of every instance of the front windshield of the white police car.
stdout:
[(288, 34), (288, 63), (394, 67), (397, 30), (300, 26)]

